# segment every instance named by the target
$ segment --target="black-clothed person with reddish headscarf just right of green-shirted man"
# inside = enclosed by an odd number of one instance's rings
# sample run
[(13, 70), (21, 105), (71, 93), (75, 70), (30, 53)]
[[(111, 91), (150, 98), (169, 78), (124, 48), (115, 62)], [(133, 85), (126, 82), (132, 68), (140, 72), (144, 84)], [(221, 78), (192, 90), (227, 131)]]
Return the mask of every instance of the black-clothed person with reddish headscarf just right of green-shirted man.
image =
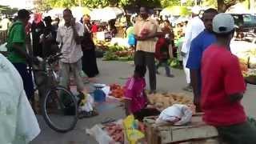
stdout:
[(45, 24), (42, 22), (42, 14), (34, 14), (34, 21), (31, 25), (32, 32), (32, 46), (33, 54), (35, 57), (42, 57), (42, 44), (40, 41), (40, 35), (43, 34)]

